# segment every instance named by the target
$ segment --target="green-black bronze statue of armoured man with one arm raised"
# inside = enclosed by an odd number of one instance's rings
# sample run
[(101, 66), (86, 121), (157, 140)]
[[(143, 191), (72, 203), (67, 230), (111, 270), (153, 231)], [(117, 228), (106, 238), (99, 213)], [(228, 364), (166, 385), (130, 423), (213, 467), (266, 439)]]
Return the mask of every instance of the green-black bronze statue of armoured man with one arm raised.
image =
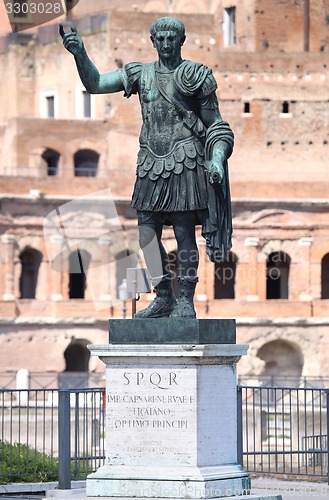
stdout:
[[(202, 226), (212, 261), (223, 261), (231, 248), (227, 159), (232, 154), (234, 136), (219, 112), (211, 70), (181, 57), (183, 23), (163, 17), (152, 23), (150, 33), (158, 53), (156, 62), (132, 62), (100, 75), (75, 27), (65, 33), (60, 26), (64, 47), (74, 55), (88, 92), (124, 91), (125, 97), (138, 94), (140, 98), (143, 125), (131, 206), (137, 210), (140, 245), (156, 297), (135, 317), (195, 318), (195, 226)], [(178, 301), (168, 255), (161, 243), (163, 225), (173, 226), (177, 240)], [(155, 235), (162, 260), (160, 276), (152, 272), (152, 255), (145, 251)]]

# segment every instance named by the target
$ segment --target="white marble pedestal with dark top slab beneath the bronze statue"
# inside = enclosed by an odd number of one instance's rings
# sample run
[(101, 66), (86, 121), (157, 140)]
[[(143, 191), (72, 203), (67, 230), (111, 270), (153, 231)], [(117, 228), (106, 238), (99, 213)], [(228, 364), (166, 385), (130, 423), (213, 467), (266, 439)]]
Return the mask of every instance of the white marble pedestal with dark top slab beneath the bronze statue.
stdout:
[[(233, 320), (210, 320), (217, 329), (207, 320), (170, 321), (170, 344), (161, 335), (168, 320), (116, 320), (109, 344), (89, 346), (106, 364), (107, 456), (88, 476), (87, 496), (250, 494), (249, 475), (237, 464), (236, 363), (247, 345), (234, 343)], [(152, 327), (154, 342), (143, 343)], [(225, 327), (231, 343), (225, 335), (214, 342)]]

